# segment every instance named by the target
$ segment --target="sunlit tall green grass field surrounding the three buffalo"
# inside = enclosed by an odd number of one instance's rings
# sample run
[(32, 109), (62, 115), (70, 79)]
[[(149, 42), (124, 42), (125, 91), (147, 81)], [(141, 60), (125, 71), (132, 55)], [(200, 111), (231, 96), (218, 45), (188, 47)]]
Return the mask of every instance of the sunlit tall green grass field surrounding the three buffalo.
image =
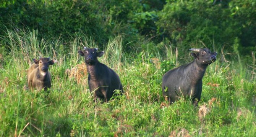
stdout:
[[(243, 61), (238, 52), (218, 51), (203, 78), (198, 107), (186, 97), (169, 105), (162, 96), (162, 75), (191, 57), (163, 45), (164, 54), (135, 49), (124, 53), (122, 37), (110, 40), (100, 62), (120, 76), (126, 96), (94, 102), (78, 50), (97, 47), (86, 36), (41, 40), (36, 31), (2, 37), (0, 49), (0, 136), (254, 136), (256, 134), (255, 53)], [(191, 47), (196, 48), (196, 47)], [(70, 52), (65, 52), (70, 51)], [(177, 58), (178, 55), (178, 58)], [(51, 57), (50, 94), (26, 89), (33, 58)], [(177, 62), (178, 61), (178, 62)]]

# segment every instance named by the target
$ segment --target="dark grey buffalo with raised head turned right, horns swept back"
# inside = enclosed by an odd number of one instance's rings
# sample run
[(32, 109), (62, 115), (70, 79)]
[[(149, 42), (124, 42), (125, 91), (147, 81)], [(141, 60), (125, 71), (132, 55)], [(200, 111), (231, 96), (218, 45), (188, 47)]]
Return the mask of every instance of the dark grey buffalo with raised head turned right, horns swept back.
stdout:
[(197, 105), (201, 99), (202, 78), (206, 68), (216, 60), (217, 53), (212, 53), (207, 48), (190, 50), (196, 51), (191, 53), (194, 61), (169, 70), (162, 78), (162, 92), (170, 103), (175, 102), (179, 97), (188, 96), (193, 100), (193, 104)]

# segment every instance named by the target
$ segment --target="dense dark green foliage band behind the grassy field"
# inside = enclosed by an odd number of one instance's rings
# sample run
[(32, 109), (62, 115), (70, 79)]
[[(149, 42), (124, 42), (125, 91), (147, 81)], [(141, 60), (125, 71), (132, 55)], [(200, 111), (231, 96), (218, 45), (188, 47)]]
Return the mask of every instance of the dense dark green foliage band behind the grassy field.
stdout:
[[(125, 52), (151, 39), (187, 50), (200, 41), (247, 54), (256, 45), (254, 0), (1, 0), (0, 34), (7, 28), (39, 30), (41, 38), (87, 34), (99, 46), (122, 34)], [(65, 45), (70, 47), (70, 45)], [(150, 48), (153, 48), (152, 46)]]

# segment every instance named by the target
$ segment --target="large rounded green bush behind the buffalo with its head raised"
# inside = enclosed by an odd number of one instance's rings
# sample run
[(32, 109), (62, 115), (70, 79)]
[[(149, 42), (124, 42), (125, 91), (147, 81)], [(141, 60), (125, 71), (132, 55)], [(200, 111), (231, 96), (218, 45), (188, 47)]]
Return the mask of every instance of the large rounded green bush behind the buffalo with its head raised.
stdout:
[[(239, 38), (239, 44), (244, 48), (240, 54), (244, 54), (243, 51), (252, 51), (255, 46), (256, 38), (251, 33), (256, 29), (255, 9), (245, 10), (253, 6), (255, 2), (251, 0), (217, 1), (214, 4), (210, 0), (170, 0), (158, 14), (158, 33), (182, 48), (203, 41), (208, 48), (215, 46), (219, 49), (223, 45), (232, 45), (235, 38)], [(230, 46), (226, 48), (233, 50)]]

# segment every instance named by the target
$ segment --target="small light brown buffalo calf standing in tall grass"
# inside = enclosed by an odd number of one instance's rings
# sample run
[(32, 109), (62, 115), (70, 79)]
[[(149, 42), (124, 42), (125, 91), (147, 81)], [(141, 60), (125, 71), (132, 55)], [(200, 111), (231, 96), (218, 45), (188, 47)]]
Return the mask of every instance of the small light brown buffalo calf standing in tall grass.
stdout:
[(55, 60), (50, 60), (48, 57), (33, 59), (34, 64), (29, 67), (28, 70), (28, 87), (32, 91), (47, 91), (47, 88), (51, 88), (51, 75), (48, 71), (49, 65), (53, 65)]

